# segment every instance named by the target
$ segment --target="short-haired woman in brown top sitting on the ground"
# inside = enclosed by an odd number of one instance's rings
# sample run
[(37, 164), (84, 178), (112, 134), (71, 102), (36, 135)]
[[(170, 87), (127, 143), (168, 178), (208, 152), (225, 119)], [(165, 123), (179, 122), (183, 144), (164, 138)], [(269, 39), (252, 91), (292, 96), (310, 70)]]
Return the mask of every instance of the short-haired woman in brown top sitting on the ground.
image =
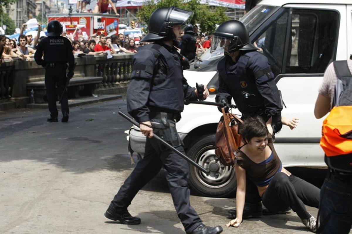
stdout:
[(266, 208), (281, 212), (290, 207), (301, 218), (302, 223), (315, 232), (316, 219), (307, 212), (304, 205), (318, 208), (320, 189), (292, 175), (282, 167), (272, 143), (271, 119), (265, 124), (260, 117), (247, 118), (240, 125), (239, 133), (245, 145), (239, 148), (235, 166), (238, 212), (237, 218), (231, 220), (226, 226), (238, 227), (242, 224), (246, 176), (248, 176), (257, 185)]

